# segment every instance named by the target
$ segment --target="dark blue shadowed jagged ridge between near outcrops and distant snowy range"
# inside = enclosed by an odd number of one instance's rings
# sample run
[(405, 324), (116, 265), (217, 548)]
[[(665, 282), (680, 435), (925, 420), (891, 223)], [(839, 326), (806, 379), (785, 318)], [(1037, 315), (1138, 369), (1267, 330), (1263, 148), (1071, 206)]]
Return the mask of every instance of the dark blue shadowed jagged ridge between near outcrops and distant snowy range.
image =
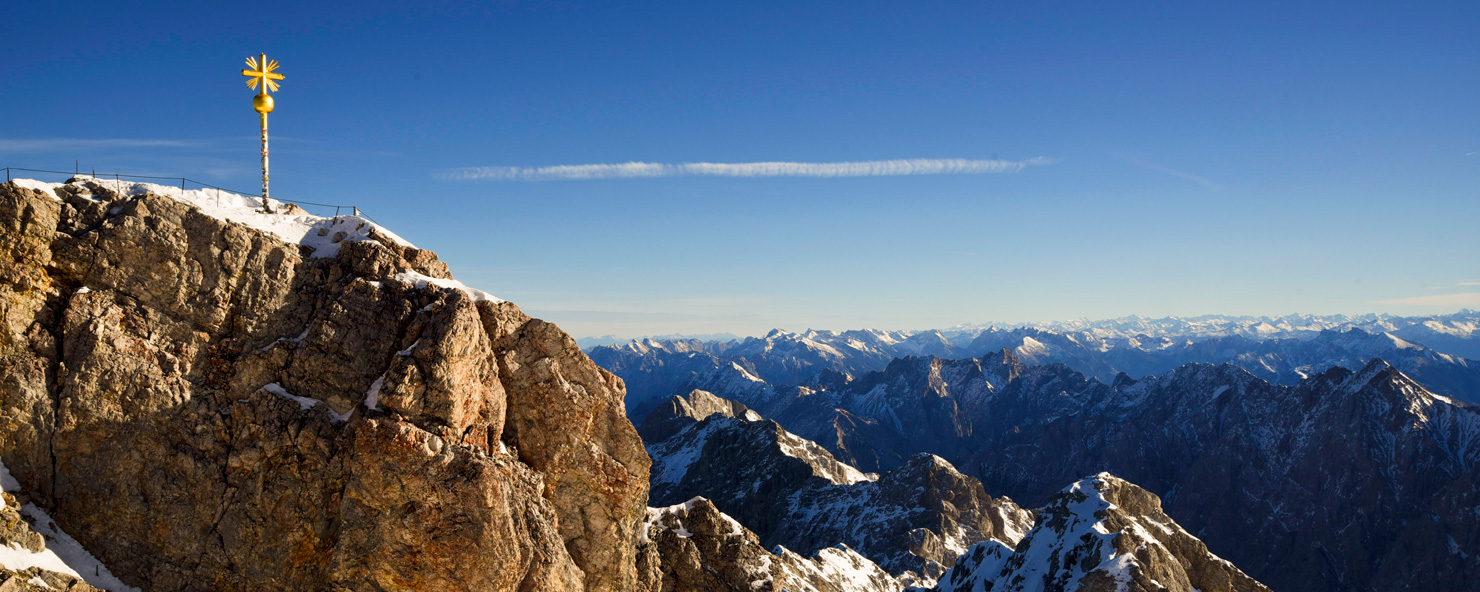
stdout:
[[(1077, 475), (1125, 475), (1276, 589), (1396, 583), (1427, 564), (1450, 570), (1436, 589), (1456, 589), (1474, 571), (1462, 554), (1480, 551), (1480, 515), (1456, 509), (1476, 496), (1477, 413), (1382, 361), (1295, 386), (1228, 364), (1106, 385), (1003, 351), (897, 360), (839, 391), (746, 398), (756, 392), (737, 400), (863, 471), (935, 451), (1027, 503)], [(1351, 524), (1362, 537), (1339, 534)]]

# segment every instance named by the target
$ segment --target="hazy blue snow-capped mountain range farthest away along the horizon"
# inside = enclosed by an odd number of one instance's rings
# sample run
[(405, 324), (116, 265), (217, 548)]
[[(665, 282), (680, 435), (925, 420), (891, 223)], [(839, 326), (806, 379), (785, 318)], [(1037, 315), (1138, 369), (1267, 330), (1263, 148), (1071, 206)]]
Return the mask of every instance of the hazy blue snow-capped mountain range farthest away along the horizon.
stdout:
[[(1119, 373), (1141, 377), (1188, 363), (1228, 363), (1294, 385), (1333, 366), (1356, 369), (1382, 358), (1433, 392), (1480, 404), (1480, 363), (1473, 360), (1480, 357), (1480, 312), (1473, 311), (1436, 317), (1129, 317), (919, 333), (773, 330), (725, 342), (632, 340), (588, 354), (626, 380), (629, 414), (641, 420), (670, 395), (694, 388), (727, 391), (713, 380), (827, 389), (901, 357), (974, 358), (999, 349), (1012, 349), (1029, 364), (1063, 363), (1101, 382), (1113, 382)], [(749, 377), (731, 371), (736, 367)]]

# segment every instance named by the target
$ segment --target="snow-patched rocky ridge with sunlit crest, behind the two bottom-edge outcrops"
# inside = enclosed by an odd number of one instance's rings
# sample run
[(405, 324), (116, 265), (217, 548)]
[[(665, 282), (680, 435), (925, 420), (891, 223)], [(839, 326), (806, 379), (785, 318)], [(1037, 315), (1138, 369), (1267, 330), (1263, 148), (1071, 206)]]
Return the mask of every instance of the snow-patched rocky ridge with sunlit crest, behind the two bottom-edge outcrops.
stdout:
[(709, 497), (767, 546), (814, 552), (844, 543), (892, 574), (932, 582), (972, 543), (1011, 546), (1033, 525), (1030, 512), (993, 499), (938, 456), (863, 474), (755, 411), (736, 417), (725, 400), (702, 391), (690, 398), (675, 397), (644, 422), (690, 423), (648, 444), (653, 502)]

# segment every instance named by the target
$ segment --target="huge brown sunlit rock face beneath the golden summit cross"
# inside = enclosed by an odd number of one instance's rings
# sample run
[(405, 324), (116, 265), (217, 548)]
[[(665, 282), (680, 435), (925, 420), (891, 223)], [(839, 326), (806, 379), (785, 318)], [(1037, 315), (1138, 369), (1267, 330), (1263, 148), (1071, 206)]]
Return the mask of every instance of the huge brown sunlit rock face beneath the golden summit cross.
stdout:
[(62, 194), (0, 185), (0, 459), (121, 579), (636, 588), (648, 457), (558, 327), (419, 287), (445, 265), (389, 238), (314, 258), (170, 198)]

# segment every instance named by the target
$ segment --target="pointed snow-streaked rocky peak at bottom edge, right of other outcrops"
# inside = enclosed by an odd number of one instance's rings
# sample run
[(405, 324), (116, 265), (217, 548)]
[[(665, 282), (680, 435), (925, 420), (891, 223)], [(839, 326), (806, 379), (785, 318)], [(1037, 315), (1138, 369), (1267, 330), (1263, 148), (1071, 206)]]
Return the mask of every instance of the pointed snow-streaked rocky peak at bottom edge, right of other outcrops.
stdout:
[(1064, 488), (1017, 551), (977, 545), (935, 592), (1268, 592), (1162, 512), (1160, 499), (1100, 474)]

